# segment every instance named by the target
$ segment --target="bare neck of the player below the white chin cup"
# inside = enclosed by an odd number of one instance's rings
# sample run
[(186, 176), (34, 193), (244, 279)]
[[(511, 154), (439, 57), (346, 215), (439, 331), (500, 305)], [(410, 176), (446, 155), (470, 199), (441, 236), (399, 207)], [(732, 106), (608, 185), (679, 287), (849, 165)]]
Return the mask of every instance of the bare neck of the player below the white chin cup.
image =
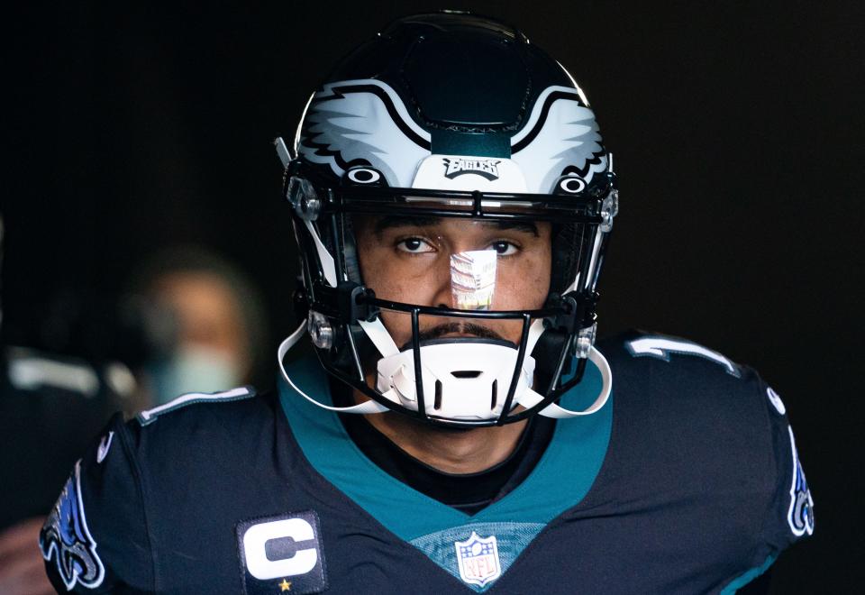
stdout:
[[(359, 402), (366, 397), (355, 393)], [(396, 413), (367, 416), (369, 423), (418, 461), (445, 473), (485, 471), (505, 461), (519, 444), (525, 421), (506, 426), (450, 430), (426, 426)]]

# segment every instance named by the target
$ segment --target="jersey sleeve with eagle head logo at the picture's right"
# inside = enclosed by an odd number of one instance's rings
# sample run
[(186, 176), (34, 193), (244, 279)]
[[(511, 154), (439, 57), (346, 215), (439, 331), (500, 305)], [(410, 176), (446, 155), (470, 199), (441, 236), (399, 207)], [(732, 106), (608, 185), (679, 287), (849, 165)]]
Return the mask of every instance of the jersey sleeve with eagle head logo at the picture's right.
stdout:
[(776, 552), (814, 533), (814, 499), (802, 469), (787, 407), (769, 385), (760, 380), (760, 397), (764, 399), (772, 436), (776, 489), (769, 503), (762, 537)]

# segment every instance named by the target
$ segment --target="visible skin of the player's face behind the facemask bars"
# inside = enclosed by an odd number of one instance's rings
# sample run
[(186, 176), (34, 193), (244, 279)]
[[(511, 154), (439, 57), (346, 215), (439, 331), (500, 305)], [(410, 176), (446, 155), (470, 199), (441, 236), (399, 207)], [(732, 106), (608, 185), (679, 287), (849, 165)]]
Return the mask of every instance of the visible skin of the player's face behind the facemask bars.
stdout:
[[(497, 256), (492, 310), (535, 309), (550, 290), (551, 226), (449, 217), (358, 217), (354, 221), (360, 272), (378, 298), (421, 306), (454, 307), (451, 254), (492, 250)], [(401, 349), (412, 340), (411, 316), (384, 311)], [(481, 336), (519, 343), (517, 320), (421, 316), (421, 340)]]

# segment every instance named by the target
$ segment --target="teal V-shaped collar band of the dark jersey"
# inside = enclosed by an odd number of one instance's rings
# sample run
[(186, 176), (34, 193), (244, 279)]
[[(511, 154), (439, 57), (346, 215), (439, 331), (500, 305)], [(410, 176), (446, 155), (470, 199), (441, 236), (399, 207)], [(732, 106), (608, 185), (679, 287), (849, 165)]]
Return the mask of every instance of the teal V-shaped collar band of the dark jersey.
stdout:
[[(314, 358), (292, 362), (286, 371), (307, 395), (332, 405), (327, 378)], [(600, 371), (589, 362), (584, 379), (560, 404), (571, 409), (587, 407), (600, 389)], [(314, 469), (405, 541), (467, 523), (546, 525), (576, 506), (592, 486), (604, 461), (613, 422), (612, 395), (593, 415), (560, 420), (529, 477), (503, 499), (469, 517), (379, 469), (351, 441), (337, 414), (315, 407), (281, 378), (279, 400), (297, 444)]]

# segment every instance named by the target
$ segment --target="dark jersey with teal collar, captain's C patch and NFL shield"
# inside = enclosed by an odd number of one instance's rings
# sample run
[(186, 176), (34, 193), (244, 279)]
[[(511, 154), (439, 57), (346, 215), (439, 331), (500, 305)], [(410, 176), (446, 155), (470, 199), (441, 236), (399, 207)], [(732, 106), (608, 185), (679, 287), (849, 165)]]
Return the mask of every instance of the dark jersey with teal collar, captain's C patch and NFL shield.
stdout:
[[(76, 592), (733, 592), (814, 528), (778, 395), (695, 343), (601, 342), (613, 395), (474, 515), (379, 469), (288, 384), (115, 418), (41, 533)], [(288, 367), (330, 399), (317, 362)], [(561, 404), (591, 403), (600, 373)]]

